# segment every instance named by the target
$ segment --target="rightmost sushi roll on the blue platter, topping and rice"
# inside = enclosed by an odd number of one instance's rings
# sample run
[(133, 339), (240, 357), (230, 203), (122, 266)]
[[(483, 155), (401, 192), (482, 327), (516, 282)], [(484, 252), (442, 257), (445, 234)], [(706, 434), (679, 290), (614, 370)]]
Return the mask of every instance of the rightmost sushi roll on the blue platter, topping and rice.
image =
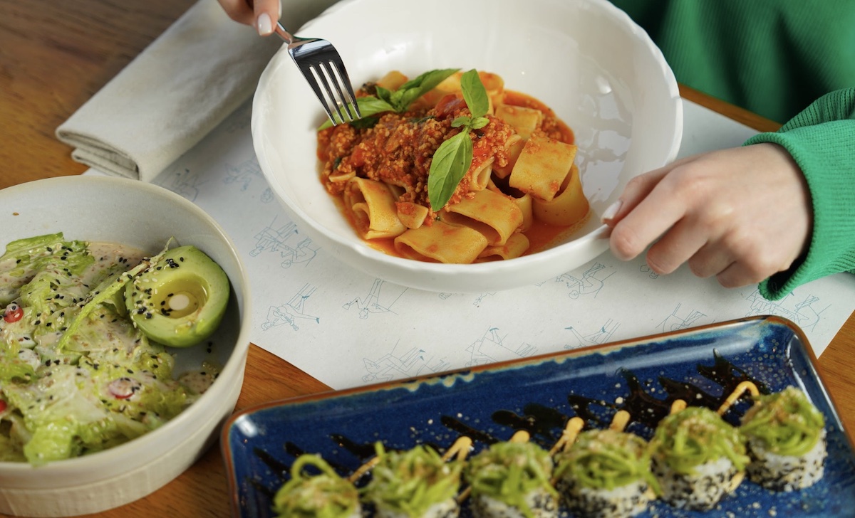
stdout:
[(798, 388), (757, 396), (740, 430), (751, 457), (750, 480), (775, 491), (794, 491), (823, 478), (825, 419)]

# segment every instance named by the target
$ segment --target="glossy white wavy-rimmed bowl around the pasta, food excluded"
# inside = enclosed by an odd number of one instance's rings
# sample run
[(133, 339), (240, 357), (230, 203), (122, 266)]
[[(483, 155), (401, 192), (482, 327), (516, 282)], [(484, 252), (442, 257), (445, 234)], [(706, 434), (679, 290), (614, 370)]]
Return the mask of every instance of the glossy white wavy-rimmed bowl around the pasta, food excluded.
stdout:
[(344, 0), (298, 33), (336, 45), (352, 84), (392, 70), (412, 78), (434, 68), (476, 68), (545, 102), (575, 132), (575, 163), (593, 213), (572, 236), (489, 263), (393, 257), (357, 236), (321, 184), (315, 137), (325, 116), (280, 49), (253, 103), (262, 172), (295, 223), (327, 253), (386, 281), (479, 292), (534, 284), (584, 265), (608, 248), (599, 215), (630, 178), (665, 165), (680, 147), (674, 74), (646, 32), (606, 0), (436, 0), (414, 9), (394, 0)]

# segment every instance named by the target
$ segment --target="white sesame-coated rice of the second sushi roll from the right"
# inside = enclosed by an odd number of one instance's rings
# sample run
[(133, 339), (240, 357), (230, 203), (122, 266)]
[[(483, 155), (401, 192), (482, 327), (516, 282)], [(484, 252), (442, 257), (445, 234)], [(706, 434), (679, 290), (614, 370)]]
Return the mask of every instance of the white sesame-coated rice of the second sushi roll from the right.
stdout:
[(667, 463), (657, 462), (654, 458), (652, 471), (662, 487), (664, 501), (677, 509), (699, 511), (713, 509), (740, 485), (743, 478), (728, 457), (701, 464), (693, 474), (676, 473)]

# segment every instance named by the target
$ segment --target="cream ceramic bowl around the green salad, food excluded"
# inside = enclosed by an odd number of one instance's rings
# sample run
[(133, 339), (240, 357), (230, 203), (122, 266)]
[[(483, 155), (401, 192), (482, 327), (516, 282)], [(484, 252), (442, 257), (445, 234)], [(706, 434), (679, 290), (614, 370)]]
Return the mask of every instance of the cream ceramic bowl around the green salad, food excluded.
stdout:
[[(125, 444), (33, 467), (0, 462), (0, 514), (70, 516), (142, 498), (190, 467), (220, 432), (237, 402), (250, 344), (251, 309), (244, 266), (221, 227), (179, 195), (150, 183), (62, 177), (0, 190), (2, 248), (15, 239), (62, 231), (67, 239), (115, 242), (157, 253), (170, 237), (194, 245), (226, 272), (227, 313), (209, 340), (174, 353), (174, 375), (217, 364), (219, 377), (173, 420)], [(2, 250), (0, 250), (2, 253)]]

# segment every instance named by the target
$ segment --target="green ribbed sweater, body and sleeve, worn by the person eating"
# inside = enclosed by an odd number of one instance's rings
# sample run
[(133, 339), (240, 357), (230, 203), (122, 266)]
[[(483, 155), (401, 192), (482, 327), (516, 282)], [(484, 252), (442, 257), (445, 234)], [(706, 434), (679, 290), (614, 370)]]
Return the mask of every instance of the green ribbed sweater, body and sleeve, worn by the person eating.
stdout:
[(778, 143), (811, 189), (805, 257), (760, 283), (780, 299), (855, 272), (855, 0), (612, 0), (651, 35), (677, 81), (788, 122)]

